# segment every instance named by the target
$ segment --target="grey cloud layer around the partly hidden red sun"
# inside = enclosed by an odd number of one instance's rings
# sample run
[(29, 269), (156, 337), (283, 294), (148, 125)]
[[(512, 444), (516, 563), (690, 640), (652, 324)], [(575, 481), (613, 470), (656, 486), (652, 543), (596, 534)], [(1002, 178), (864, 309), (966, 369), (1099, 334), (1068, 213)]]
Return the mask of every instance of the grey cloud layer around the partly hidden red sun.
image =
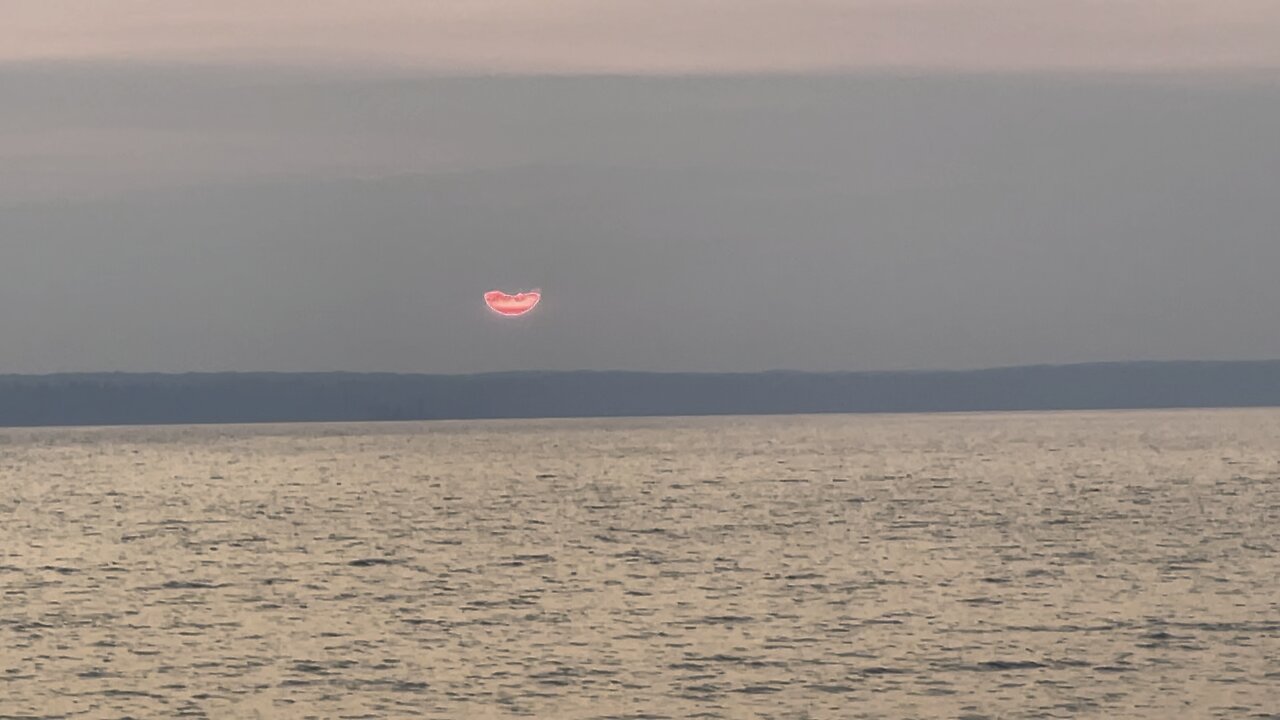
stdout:
[(0, 86), (0, 372), (1280, 357), (1277, 83)]

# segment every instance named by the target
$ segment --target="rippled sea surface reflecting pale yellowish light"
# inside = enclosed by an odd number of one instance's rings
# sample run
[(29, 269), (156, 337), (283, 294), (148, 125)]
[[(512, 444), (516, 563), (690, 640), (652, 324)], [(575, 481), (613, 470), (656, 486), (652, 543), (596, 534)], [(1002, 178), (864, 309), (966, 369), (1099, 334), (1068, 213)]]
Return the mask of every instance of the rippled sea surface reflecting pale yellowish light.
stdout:
[(1280, 411), (0, 430), (0, 717), (1280, 717)]

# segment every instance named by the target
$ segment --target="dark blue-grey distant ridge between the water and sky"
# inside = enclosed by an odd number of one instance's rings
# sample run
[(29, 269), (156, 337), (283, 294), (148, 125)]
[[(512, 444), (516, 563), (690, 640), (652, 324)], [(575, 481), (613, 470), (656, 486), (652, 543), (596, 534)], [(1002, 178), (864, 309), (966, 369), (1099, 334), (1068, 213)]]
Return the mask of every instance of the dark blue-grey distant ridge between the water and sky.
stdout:
[(1280, 406), (1280, 361), (961, 372), (0, 375), (0, 425)]

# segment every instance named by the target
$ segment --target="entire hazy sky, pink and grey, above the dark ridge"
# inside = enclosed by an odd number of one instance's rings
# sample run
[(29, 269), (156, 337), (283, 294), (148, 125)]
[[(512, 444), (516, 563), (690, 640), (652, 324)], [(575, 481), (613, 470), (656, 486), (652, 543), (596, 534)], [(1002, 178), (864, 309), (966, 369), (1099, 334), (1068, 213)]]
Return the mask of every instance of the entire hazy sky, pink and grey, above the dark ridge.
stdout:
[(1280, 357), (1275, 3), (0, 10), (0, 372)]

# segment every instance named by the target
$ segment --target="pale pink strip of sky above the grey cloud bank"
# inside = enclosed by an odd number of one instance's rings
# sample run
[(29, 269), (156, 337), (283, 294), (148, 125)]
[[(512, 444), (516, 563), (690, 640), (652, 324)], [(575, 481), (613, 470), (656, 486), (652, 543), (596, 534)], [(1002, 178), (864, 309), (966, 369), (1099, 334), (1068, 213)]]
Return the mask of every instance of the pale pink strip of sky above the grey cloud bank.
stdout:
[(0, 61), (681, 73), (1280, 68), (1280, 0), (0, 0)]

